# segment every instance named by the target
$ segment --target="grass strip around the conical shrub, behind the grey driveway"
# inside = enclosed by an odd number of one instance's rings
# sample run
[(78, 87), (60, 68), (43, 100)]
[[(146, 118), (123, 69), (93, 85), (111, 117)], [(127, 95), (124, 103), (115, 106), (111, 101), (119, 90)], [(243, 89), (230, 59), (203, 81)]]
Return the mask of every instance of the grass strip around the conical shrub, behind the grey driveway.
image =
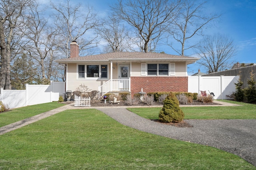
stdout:
[[(184, 119), (256, 119), (256, 105), (220, 100), (242, 106), (209, 106), (209, 107), (180, 107), (185, 114)], [(147, 119), (158, 119), (158, 108), (128, 108), (128, 110)]]

